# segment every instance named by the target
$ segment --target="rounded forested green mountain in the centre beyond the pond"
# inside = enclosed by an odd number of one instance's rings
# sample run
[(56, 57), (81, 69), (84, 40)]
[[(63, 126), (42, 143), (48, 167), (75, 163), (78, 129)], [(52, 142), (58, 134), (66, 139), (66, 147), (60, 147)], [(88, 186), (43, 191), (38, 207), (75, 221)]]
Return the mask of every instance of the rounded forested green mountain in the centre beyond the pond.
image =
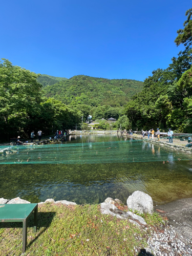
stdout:
[(124, 106), (133, 95), (141, 92), (142, 88), (143, 82), (137, 80), (78, 75), (46, 86), (43, 94), (67, 105), (120, 107)]

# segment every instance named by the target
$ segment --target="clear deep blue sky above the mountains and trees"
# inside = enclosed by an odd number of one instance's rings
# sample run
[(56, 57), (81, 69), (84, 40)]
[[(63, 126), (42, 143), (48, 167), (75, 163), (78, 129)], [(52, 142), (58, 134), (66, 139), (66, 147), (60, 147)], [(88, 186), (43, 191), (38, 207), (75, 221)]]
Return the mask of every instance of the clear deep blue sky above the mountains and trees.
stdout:
[(0, 58), (35, 73), (144, 80), (166, 68), (191, 0), (7, 0)]

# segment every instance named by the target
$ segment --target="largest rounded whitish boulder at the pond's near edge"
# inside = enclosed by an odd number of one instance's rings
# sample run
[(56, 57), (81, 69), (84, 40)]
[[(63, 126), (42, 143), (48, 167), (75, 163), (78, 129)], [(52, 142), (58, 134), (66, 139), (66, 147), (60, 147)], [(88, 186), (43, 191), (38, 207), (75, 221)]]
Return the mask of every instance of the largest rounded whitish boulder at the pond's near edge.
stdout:
[(127, 207), (132, 210), (137, 210), (141, 214), (146, 212), (153, 214), (153, 200), (142, 191), (135, 191), (129, 198), (127, 198)]

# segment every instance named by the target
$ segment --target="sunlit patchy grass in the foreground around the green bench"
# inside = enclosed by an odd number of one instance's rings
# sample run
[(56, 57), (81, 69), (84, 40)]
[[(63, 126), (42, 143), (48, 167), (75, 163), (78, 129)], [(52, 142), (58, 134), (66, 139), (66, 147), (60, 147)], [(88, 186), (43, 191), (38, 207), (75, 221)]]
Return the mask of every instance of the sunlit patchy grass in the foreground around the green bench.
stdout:
[(161, 229), (165, 220), (142, 215), (147, 223), (138, 227), (129, 220), (101, 215), (99, 205), (42, 204), (38, 209), (38, 230), (33, 216), (28, 221), (27, 250), (22, 254), (22, 224), (0, 223), (0, 255), (138, 255), (146, 246), (151, 229)]

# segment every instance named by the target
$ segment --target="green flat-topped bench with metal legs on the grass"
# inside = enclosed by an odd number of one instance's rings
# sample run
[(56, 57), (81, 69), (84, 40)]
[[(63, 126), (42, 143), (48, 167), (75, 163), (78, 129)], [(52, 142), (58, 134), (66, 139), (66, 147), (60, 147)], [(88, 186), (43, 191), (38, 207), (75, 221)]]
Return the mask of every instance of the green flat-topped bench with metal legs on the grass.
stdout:
[(23, 252), (27, 245), (27, 221), (33, 211), (36, 232), (38, 204), (0, 204), (0, 222), (23, 222)]

